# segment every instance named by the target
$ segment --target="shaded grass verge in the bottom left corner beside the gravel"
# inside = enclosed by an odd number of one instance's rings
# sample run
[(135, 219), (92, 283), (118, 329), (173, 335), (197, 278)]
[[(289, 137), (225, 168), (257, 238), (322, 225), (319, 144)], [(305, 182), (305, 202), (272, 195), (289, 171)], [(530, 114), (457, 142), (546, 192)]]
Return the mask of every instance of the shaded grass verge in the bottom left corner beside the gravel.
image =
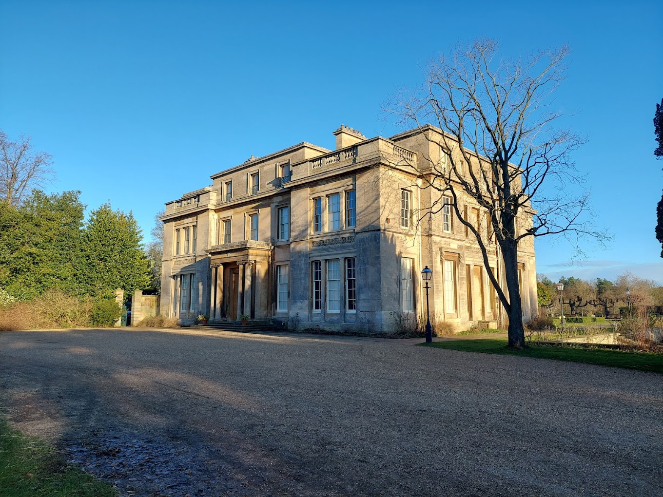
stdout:
[(42, 441), (0, 418), (0, 497), (115, 497), (113, 487), (67, 465)]

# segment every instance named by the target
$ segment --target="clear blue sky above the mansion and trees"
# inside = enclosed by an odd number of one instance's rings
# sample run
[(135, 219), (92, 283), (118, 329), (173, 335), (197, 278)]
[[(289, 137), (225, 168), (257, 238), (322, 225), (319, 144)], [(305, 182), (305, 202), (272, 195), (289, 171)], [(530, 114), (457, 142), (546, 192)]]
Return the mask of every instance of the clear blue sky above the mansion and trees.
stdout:
[[(501, 40), (511, 56), (568, 43), (554, 105), (577, 113), (575, 153), (598, 223), (614, 235), (581, 266), (537, 239), (537, 269), (663, 283), (654, 237), (663, 161), (652, 118), (663, 98), (658, 1), (0, 3), (0, 128), (54, 156), (49, 190), (133, 211), (149, 236), (166, 201), (249, 156), (308, 141), (333, 148), (341, 123), (367, 137), (396, 87), (455, 42)], [(591, 248), (587, 245), (587, 248)]]

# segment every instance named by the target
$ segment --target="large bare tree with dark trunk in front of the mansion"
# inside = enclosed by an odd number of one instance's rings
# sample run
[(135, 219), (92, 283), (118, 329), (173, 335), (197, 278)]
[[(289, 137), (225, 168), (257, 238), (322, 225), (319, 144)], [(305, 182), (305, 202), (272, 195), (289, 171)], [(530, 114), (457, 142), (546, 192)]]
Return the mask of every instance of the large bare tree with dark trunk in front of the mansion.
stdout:
[[(589, 194), (578, 188), (583, 177), (571, 152), (585, 140), (555, 129), (562, 113), (548, 111), (547, 98), (564, 80), (569, 49), (516, 61), (498, 58), (497, 50), (497, 42), (487, 39), (459, 46), (450, 58), (429, 64), (420, 91), (400, 92), (387, 111), (409, 126), (435, 123), (442, 130), (439, 146), (446, 160), (429, 161), (424, 187), (452, 196), (455, 216), (476, 239), (509, 316), (509, 347), (520, 349), (525, 339), (518, 244), (562, 235), (577, 248), (583, 235), (602, 241), (607, 234), (591, 224)], [(504, 286), (491, 269), (481, 229), (461, 213), (461, 197), (471, 197), (487, 212), (504, 262)], [(442, 208), (432, 205), (430, 212)]]

